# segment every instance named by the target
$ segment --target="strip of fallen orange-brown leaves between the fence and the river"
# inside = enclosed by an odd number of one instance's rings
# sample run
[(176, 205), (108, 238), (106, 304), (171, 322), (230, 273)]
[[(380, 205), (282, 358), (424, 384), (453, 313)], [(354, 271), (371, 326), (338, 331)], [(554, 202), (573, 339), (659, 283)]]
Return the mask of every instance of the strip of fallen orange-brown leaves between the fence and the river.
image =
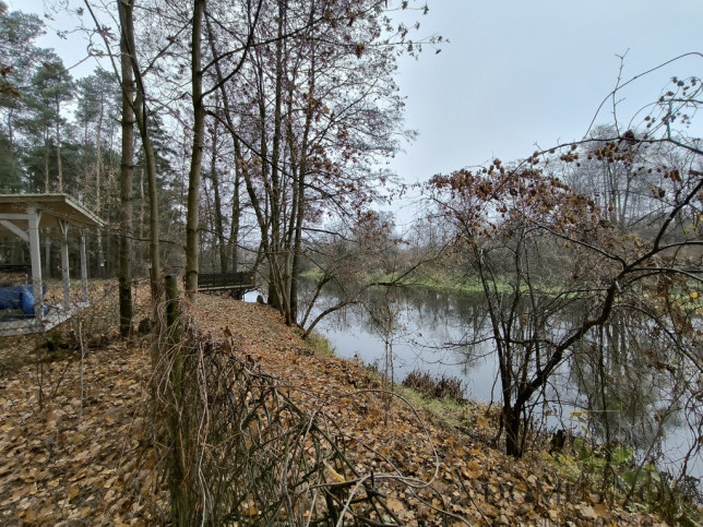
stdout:
[[(474, 434), (416, 415), (400, 394), (388, 409), (376, 374), (356, 361), (312, 354), (299, 332), (266, 306), (201, 297), (194, 312), (203, 333), (215, 339), (230, 333), (250, 360), (290, 386), (300, 407), (334, 418), (345, 455), (360, 474), (398, 476), (378, 487), (389, 507), (409, 525), (446, 525), (441, 511), (454, 515), (449, 525), (593, 525), (594, 519), (660, 525), (653, 517), (606, 510), (598, 496), (560, 482), (540, 458), (508, 458)], [(482, 410), (467, 405), (466, 420), (487, 427)]]

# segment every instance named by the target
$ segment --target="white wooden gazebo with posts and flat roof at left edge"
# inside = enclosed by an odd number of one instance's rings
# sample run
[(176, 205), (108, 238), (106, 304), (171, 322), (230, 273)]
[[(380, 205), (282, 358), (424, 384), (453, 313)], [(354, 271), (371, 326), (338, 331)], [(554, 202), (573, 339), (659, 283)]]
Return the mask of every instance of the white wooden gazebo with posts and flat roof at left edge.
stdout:
[[(88, 306), (86, 227), (102, 227), (103, 221), (65, 194), (0, 194), (0, 231), (10, 231), (29, 245), (34, 319), (0, 322), (0, 336), (40, 333), (65, 322)], [(39, 230), (59, 228), (61, 232), (61, 274), (63, 302), (44, 310)], [(79, 301), (71, 300), (69, 274), (69, 228), (80, 232), (82, 291)]]

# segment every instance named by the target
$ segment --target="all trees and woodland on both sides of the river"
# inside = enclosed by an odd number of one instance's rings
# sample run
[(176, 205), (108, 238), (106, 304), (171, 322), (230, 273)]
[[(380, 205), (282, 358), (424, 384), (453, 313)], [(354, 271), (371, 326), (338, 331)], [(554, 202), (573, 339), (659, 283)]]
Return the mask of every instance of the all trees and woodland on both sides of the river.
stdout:
[[(404, 191), (379, 167), (413, 136), (393, 72), (398, 53), (442, 41), (394, 22), (410, 9), (426, 12), (406, 1), (86, 0), (75, 12), (105, 65), (75, 81), (34, 45), (40, 20), (0, 4), (0, 191), (67, 192), (109, 223), (92, 273), (119, 278), (123, 335), (131, 285), (150, 273), (158, 303), (165, 274), (183, 274), (193, 298), (199, 271), (255, 268), (267, 302), (306, 334), (370, 287), (475, 284), (490, 331), (455, 344), (496, 346), (509, 454), (522, 455), (529, 408), (559, 366), (583, 356), (597, 381), (591, 410), (634, 404), (622, 387), (638, 379), (622, 364), (639, 362), (669, 394), (664, 407), (636, 402), (651, 406), (650, 426), (683, 411), (699, 456), (700, 80), (672, 79), (634, 117), (617, 112), (619, 85), (606, 99), (612, 122), (582, 141), (434, 176), (425, 214), (397, 232), (376, 212)], [(302, 302), (305, 271), (318, 291), (341, 288), (338, 303)], [(373, 307), (389, 333), (391, 300)]]

